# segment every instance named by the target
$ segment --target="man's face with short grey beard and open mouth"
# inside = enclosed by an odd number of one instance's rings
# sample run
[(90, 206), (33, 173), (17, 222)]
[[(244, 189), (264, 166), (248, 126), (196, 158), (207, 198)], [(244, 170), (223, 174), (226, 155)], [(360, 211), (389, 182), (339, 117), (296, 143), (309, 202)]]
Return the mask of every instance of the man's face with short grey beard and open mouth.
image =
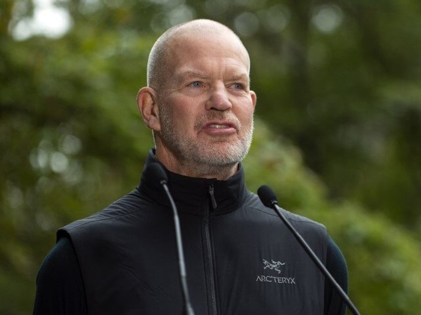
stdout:
[(222, 35), (181, 39), (173, 52), (159, 98), (161, 149), (196, 173), (235, 165), (250, 148), (256, 104), (244, 48)]

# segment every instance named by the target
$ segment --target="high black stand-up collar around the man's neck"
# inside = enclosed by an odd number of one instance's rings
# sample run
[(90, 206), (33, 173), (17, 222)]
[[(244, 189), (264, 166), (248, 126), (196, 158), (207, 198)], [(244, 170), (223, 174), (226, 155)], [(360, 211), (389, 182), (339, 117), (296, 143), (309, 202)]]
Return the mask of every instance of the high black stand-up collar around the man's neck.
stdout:
[[(170, 207), (170, 202), (156, 179), (145, 176), (144, 170), (153, 162), (160, 163), (151, 149), (144, 164), (139, 190), (156, 203)], [(247, 188), (241, 164), (238, 171), (227, 180), (188, 177), (170, 172), (164, 165), (162, 167), (167, 173), (168, 188), (178, 211), (203, 215), (210, 210), (214, 214), (222, 214), (237, 209), (246, 198)], [(214, 204), (212, 206), (212, 190), (216, 207)]]

